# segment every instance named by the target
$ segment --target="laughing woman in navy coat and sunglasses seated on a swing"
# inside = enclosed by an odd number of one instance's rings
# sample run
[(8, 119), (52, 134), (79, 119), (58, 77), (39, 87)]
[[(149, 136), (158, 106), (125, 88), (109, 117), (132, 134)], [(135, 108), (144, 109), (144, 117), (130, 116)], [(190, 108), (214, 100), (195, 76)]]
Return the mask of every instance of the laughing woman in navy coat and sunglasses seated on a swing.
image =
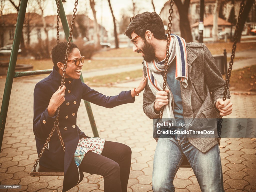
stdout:
[(83, 178), (82, 172), (102, 175), (105, 192), (127, 191), (131, 166), (130, 147), (86, 136), (76, 124), (77, 111), (81, 99), (107, 108), (133, 103), (135, 95), (144, 89), (147, 78), (143, 77), (134, 90), (107, 97), (81, 82), (84, 57), (78, 47), (71, 43), (65, 82), (60, 89), (66, 49), (67, 42), (60, 42), (52, 48), (53, 71), (38, 82), (34, 90), (33, 131), (38, 154), (54, 127), (59, 106), (59, 129), (66, 148), (64, 152), (55, 131), (40, 159), (40, 165), (64, 170), (62, 191), (78, 185)]

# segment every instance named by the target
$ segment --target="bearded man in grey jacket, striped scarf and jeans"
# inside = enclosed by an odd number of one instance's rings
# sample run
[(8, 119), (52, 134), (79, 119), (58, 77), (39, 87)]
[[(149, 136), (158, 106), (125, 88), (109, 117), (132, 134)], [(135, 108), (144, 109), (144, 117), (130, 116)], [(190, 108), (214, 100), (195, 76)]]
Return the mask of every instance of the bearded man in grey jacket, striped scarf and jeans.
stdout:
[[(176, 35), (171, 36), (167, 88), (162, 91), (167, 45), (162, 19), (155, 12), (138, 14), (132, 18), (125, 35), (132, 39), (133, 51), (144, 58), (148, 83), (143, 110), (150, 119), (158, 118), (164, 106), (163, 118), (191, 123), (193, 130), (202, 131), (209, 129), (210, 118), (232, 112), (229, 91), (228, 99), (221, 99), (225, 81), (204, 44), (186, 43)], [(179, 128), (188, 129), (188, 126)], [(154, 192), (175, 190), (173, 179), (184, 158), (188, 159), (203, 192), (224, 191), (217, 138), (175, 134), (161, 135), (157, 142), (152, 175)]]

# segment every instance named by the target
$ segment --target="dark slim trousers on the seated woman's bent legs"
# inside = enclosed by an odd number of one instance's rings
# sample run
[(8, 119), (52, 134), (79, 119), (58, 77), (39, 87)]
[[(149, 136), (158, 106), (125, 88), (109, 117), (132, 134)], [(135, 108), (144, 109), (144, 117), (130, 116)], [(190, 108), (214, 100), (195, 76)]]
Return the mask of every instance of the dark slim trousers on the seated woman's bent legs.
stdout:
[(131, 155), (129, 146), (105, 141), (101, 155), (93, 152), (86, 153), (79, 168), (82, 172), (102, 175), (104, 192), (127, 192)]

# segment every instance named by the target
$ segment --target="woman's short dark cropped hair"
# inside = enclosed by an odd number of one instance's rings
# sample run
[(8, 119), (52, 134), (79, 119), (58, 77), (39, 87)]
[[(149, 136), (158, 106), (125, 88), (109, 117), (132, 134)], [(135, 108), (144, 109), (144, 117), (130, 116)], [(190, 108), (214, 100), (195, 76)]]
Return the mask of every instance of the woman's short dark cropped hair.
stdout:
[[(57, 63), (58, 62), (64, 62), (66, 57), (66, 51), (68, 48), (67, 45), (68, 42), (59, 42), (57, 43), (51, 50), (51, 58), (52, 62), (54, 64), (54, 67), (57, 69)], [(70, 42), (69, 46), (69, 54), (72, 53), (74, 48), (78, 48), (76, 44)]]

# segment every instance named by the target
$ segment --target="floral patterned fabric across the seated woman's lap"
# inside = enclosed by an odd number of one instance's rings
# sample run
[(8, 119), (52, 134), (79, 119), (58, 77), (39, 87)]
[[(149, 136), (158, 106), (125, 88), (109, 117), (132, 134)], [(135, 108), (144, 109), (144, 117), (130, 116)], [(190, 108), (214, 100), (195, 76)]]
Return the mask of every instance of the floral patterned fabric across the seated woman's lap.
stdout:
[(74, 154), (74, 160), (79, 166), (84, 158), (84, 155), (91, 151), (93, 153), (101, 154), (104, 148), (105, 139), (99, 137), (83, 137), (80, 138), (77, 144), (77, 149)]

